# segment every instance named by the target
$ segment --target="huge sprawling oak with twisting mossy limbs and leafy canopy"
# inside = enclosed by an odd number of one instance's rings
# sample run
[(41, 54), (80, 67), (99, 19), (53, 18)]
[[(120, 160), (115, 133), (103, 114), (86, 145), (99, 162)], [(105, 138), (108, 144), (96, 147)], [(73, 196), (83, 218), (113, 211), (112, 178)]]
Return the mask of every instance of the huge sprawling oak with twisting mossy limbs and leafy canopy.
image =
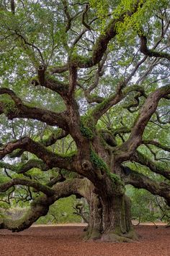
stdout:
[(31, 197), (0, 228), (77, 195), (88, 239), (135, 239), (126, 184), (170, 205), (168, 1), (1, 1), (0, 22), (0, 190)]

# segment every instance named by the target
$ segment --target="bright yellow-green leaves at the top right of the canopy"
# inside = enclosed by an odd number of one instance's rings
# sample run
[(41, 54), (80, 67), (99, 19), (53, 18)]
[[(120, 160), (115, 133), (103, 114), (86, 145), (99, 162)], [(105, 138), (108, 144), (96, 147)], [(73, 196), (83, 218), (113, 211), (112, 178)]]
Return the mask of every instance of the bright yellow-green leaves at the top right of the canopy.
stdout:
[[(91, 0), (89, 1), (91, 7), (97, 12), (100, 19), (100, 31), (104, 32), (104, 27), (107, 24), (108, 13), (112, 14), (113, 19), (119, 19), (122, 15), (124, 21), (120, 20), (117, 23), (117, 40), (119, 43), (125, 43), (128, 38), (131, 42), (133, 36), (146, 33), (146, 24), (156, 15), (159, 9), (166, 9), (169, 6), (169, 0)], [(138, 11), (133, 15), (133, 12), (138, 4)], [(130, 32), (130, 33), (129, 33)]]

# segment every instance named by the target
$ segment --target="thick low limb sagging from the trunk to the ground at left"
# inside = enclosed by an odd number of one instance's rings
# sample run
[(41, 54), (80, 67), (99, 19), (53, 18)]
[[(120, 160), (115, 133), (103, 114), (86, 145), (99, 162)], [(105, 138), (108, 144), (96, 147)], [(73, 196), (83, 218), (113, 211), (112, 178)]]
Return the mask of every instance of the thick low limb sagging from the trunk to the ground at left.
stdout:
[(32, 223), (37, 221), (38, 218), (45, 216), (48, 213), (50, 205), (56, 200), (70, 195), (86, 197), (84, 187), (86, 187), (86, 192), (88, 193), (90, 182), (87, 179), (73, 179), (55, 184), (52, 189), (48, 188), (49, 192), (54, 192), (53, 195), (42, 195), (33, 199), (30, 209), (18, 220), (12, 220), (6, 217), (0, 218), (0, 229), (9, 229), (12, 232), (27, 229)]

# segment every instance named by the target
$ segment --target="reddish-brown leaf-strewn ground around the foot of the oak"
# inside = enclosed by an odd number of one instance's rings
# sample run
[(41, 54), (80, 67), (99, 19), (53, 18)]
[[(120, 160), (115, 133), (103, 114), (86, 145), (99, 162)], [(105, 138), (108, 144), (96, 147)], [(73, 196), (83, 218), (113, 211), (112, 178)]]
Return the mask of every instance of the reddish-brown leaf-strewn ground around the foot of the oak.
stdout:
[(0, 231), (1, 256), (169, 256), (170, 228), (137, 226), (139, 242), (83, 242), (81, 226), (39, 226), (20, 233)]

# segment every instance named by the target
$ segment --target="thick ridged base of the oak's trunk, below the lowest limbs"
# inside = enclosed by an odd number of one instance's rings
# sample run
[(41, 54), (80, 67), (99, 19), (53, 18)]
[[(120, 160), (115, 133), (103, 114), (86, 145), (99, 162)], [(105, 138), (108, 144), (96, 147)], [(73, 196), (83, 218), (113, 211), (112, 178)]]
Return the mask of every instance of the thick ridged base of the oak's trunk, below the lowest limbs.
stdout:
[(103, 242), (130, 242), (137, 239), (131, 222), (130, 205), (126, 195), (99, 197), (91, 193), (85, 239)]

